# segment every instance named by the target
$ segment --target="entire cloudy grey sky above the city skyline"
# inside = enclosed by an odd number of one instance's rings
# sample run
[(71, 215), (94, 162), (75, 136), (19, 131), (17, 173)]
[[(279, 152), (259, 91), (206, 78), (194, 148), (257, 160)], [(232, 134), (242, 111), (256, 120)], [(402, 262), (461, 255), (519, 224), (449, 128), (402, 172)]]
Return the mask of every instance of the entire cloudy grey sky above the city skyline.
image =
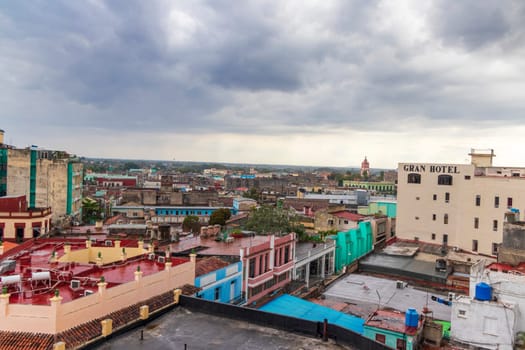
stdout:
[(525, 166), (525, 2), (3, 1), (0, 128), (92, 157)]

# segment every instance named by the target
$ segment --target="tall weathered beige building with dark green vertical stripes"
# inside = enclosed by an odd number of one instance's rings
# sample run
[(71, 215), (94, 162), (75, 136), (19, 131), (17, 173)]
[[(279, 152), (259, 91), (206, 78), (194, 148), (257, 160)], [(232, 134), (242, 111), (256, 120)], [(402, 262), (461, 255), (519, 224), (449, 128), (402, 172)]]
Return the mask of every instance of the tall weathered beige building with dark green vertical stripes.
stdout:
[(29, 208), (51, 207), (54, 221), (66, 217), (79, 221), (82, 163), (64, 151), (38, 149), (36, 146), (18, 149), (2, 142), (0, 196), (25, 195)]

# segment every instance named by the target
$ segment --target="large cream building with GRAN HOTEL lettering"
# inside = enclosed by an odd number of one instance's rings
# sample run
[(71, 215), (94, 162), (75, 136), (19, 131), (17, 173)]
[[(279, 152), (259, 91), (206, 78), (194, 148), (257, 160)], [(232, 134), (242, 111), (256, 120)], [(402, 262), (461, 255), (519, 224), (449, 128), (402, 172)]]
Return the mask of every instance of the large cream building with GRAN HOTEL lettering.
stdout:
[(399, 238), (497, 254), (505, 213), (525, 210), (525, 168), (492, 166), (493, 150), (470, 155), (471, 164), (399, 164)]

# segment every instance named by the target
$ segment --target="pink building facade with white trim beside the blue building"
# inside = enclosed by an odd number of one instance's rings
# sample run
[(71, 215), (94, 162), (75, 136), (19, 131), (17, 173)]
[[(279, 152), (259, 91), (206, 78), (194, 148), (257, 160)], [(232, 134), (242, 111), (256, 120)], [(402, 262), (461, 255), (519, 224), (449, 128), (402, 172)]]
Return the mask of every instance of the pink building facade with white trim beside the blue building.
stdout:
[(268, 236), (267, 242), (241, 248), (244, 266), (242, 291), (250, 304), (291, 281), (295, 256), (295, 233)]

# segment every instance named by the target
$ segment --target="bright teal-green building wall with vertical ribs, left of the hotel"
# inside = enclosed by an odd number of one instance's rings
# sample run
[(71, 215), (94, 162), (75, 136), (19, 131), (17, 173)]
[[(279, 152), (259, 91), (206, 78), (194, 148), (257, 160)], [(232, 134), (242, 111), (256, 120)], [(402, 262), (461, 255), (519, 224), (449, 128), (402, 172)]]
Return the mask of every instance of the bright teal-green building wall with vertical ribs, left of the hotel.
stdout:
[(357, 228), (338, 232), (337, 235), (328, 238), (335, 241), (334, 268), (338, 272), (373, 249), (374, 238), (369, 221), (360, 222)]

